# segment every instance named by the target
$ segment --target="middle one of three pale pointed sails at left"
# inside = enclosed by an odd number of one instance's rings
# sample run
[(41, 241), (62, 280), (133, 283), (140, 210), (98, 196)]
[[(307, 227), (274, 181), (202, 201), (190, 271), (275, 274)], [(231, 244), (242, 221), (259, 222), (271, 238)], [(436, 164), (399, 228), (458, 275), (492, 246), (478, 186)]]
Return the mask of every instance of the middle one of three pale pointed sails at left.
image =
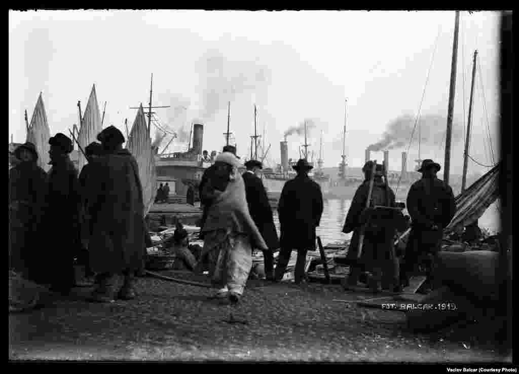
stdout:
[[(95, 94), (95, 85), (93, 85), (87, 107), (85, 108), (85, 113), (83, 114), (83, 120), (81, 120), (79, 135), (77, 136), (77, 141), (81, 148), (85, 150), (87, 145), (95, 142), (95, 138), (101, 130), (103, 130), (103, 127), (101, 126), (101, 115), (99, 113), (97, 95)], [(87, 160), (85, 156), (78, 149), (77, 170), (80, 172), (86, 163)]]

